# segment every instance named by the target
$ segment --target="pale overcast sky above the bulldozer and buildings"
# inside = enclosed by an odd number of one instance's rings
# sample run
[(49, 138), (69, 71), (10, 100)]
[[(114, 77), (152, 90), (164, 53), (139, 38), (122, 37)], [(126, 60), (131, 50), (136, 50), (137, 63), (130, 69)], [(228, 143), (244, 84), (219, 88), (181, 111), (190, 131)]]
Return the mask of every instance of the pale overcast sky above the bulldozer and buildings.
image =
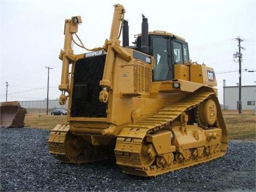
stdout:
[[(47, 69), (50, 69), (49, 99), (59, 98), (61, 77), (59, 52), (63, 49), (65, 19), (81, 15), (78, 35), (86, 47), (102, 46), (109, 38), (114, 4), (125, 7), (130, 45), (141, 32), (141, 13), (149, 31), (164, 30), (186, 39), (192, 61), (214, 68), (220, 103), (223, 79), (226, 86), (239, 82), (236, 37), (244, 41), (242, 85), (256, 84), (256, 0), (252, 1), (28, 1), (0, 0), (0, 102), (44, 100)], [(85, 50), (74, 45), (76, 54)], [(255, 70), (254, 73), (247, 70)]]

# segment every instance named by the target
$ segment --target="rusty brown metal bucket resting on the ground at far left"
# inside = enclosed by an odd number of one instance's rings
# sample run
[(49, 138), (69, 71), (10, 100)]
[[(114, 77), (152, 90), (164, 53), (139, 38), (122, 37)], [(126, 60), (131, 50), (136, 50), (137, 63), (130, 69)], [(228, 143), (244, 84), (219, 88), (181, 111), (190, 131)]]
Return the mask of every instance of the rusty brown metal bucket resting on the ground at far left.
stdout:
[(0, 102), (0, 127), (23, 127), (27, 110), (18, 101)]

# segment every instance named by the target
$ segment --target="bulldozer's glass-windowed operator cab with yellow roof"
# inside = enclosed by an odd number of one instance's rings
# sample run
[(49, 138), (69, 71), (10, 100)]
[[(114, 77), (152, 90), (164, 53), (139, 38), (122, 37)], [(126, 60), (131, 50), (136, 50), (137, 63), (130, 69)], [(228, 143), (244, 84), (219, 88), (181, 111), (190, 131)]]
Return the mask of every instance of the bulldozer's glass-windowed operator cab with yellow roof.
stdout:
[[(175, 64), (189, 62), (188, 43), (185, 39), (165, 31), (149, 32), (149, 53), (155, 58), (153, 81), (172, 80)], [(141, 36), (135, 41), (136, 47), (141, 47)]]

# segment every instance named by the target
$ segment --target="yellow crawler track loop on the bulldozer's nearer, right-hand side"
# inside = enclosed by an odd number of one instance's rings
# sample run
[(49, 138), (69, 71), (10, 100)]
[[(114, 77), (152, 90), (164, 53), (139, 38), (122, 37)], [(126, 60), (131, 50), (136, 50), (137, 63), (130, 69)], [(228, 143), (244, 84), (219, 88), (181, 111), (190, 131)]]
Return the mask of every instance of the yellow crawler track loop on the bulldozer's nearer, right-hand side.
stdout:
[[(174, 153), (173, 155), (171, 154), (171, 156), (173, 156), (171, 157), (173, 162), (169, 163), (167, 166), (160, 167), (152, 164), (153, 162), (150, 162), (150, 159), (143, 158), (145, 153), (147, 153), (147, 146), (144, 143), (147, 134), (156, 132), (157, 130), (163, 129), (165, 126), (170, 125), (177, 120), (183, 111), (197, 107), (201, 102), (208, 98), (213, 99), (217, 103), (217, 117), (222, 132), (221, 147), (220, 150), (217, 150), (217, 154), (207, 154), (200, 158), (179, 162), (176, 158), (174, 159)], [(214, 158), (225, 155), (226, 149), (227, 130), (223, 121), (218, 99), (212, 92), (198, 92), (164, 107), (158, 113), (143, 121), (125, 126), (117, 137), (115, 154), (117, 165), (121, 167), (123, 172), (147, 177), (211, 161)]]

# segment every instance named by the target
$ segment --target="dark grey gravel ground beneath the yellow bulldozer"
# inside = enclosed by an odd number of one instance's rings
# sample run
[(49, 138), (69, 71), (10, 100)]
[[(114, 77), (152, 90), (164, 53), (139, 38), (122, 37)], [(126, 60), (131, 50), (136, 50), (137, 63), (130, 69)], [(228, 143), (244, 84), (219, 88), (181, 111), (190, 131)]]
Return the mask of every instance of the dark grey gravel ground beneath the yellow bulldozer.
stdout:
[(0, 191), (255, 191), (255, 142), (230, 141), (225, 157), (141, 178), (114, 160), (64, 164), (48, 153), (49, 131), (1, 128)]

